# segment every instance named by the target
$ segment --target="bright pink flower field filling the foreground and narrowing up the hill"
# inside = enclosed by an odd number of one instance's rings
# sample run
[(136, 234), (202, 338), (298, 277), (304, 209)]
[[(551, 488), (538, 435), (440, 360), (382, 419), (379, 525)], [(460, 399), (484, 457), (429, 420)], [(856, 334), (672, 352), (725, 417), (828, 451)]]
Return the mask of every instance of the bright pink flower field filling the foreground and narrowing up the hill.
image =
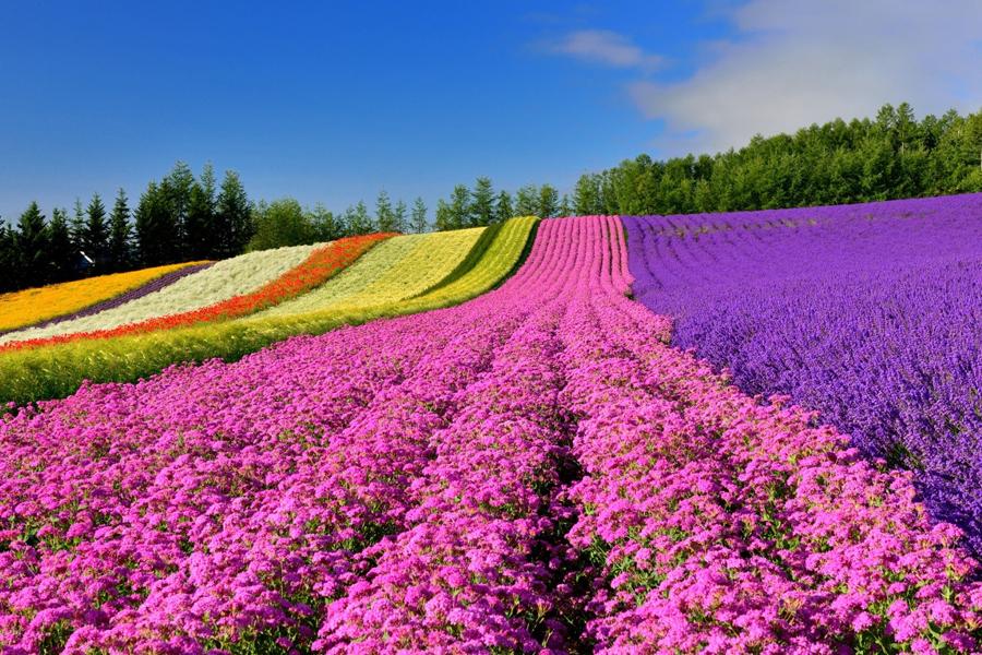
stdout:
[(432, 311), (0, 418), (0, 646), (979, 647), (979, 564), (910, 473), (670, 346), (631, 222), (541, 222), (501, 284), (535, 226), (402, 303)]

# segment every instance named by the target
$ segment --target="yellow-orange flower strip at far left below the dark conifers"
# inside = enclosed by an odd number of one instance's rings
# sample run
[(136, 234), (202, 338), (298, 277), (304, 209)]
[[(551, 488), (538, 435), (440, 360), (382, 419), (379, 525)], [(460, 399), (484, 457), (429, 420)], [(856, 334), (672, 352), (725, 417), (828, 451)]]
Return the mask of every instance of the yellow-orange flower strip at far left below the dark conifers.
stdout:
[(0, 294), (0, 335), (80, 312), (202, 263), (188, 262), (156, 266)]

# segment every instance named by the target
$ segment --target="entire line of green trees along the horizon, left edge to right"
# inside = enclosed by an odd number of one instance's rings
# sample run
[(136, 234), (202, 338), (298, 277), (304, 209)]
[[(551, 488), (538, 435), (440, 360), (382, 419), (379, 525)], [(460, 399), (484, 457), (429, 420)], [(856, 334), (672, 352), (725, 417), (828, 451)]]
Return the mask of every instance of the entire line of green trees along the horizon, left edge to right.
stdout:
[(333, 213), (291, 198), (252, 202), (238, 175), (220, 184), (206, 165), (195, 178), (178, 162), (131, 212), (120, 189), (110, 210), (95, 194), (48, 221), (36, 202), (15, 226), (0, 223), (0, 291), (243, 251), (330, 241), (372, 231), (476, 227), (512, 216), (687, 214), (841, 204), (982, 191), (982, 111), (918, 121), (908, 104), (874, 119), (841, 119), (794, 134), (755, 136), (740, 150), (664, 160), (639, 155), (583, 175), (570, 194), (527, 184), (514, 194), (480, 177), (436, 202), (395, 202), (385, 191)]

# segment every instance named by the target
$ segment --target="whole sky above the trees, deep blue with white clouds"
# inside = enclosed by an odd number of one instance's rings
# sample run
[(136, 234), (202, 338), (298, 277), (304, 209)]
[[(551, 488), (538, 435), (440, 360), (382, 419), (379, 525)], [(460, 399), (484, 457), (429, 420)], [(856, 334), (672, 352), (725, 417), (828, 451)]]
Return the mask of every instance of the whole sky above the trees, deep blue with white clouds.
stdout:
[(884, 102), (977, 110), (982, 15), (951, 2), (0, 0), (0, 215), (135, 204), (177, 159), (253, 199), (432, 207)]

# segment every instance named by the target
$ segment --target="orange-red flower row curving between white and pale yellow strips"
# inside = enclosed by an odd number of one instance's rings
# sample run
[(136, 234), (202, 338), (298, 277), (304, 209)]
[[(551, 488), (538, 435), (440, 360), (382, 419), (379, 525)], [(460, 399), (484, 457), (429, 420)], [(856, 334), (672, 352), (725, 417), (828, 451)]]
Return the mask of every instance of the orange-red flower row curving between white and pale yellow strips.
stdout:
[(112, 338), (131, 334), (143, 334), (157, 330), (173, 330), (187, 327), (197, 323), (226, 321), (255, 313), (273, 305), (277, 305), (290, 298), (323, 284), (339, 271), (355, 263), (369, 248), (394, 236), (393, 233), (381, 233), (347, 237), (334, 241), (323, 248), (314, 250), (299, 266), (291, 269), (276, 279), (263, 285), (254, 291), (229, 298), (216, 305), (203, 307), (193, 311), (148, 319), (139, 323), (120, 325), (110, 330), (96, 330), (93, 332), (79, 332), (74, 334), (61, 334), (43, 338), (12, 342), (0, 346), (3, 350), (20, 350), (23, 348), (36, 348), (52, 344), (74, 342), (81, 340)]

